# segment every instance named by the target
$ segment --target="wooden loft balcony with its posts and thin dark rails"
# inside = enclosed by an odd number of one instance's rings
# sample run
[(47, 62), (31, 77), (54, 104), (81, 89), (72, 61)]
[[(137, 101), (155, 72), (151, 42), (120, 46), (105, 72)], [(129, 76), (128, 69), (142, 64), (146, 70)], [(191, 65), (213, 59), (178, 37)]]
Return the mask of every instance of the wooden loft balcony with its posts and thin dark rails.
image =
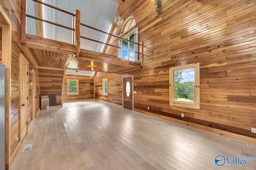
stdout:
[[(30, 0), (35, 2), (37, 6), (37, 17), (32, 16), (26, 13), (26, 0), (22, 0), (22, 45), (28, 50), (33, 58), (34, 63), (38, 67), (46, 67), (46, 68), (59, 68), (59, 69), (77, 69), (77, 70), (88, 70), (92, 69), (96, 72), (109, 72), (109, 73), (122, 73), (129, 70), (136, 70), (142, 67), (142, 59), (143, 59), (143, 49), (142, 49), (142, 42), (136, 43), (133, 41), (129, 41), (123, 39), (122, 37), (118, 37), (116, 35), (112, 35), (105, 31), (101, 31), (100, 29), (96, 29), (90, 27), (84, 23), (81, 23), (81, 14), (79, 10), (76, 10), (76, 14), (72, 14), (60, 8), (54, 7), (50, 4), (46, 4), (39, 0)], [(72, 27), (68, 27), (65, 25), (61, 25), (59, 23), (54, 23), (53, 21), (44, 20), (42, 19), (42, 6), (47, 6), (48, 8), (53, 8), (59, 12), (62, 12), (66, 15), (70, 15), (72, 17)], [(28, 9), (28, 8), (27, 8)], [(29, 35), (26, 33), (26, 18), (36, 20), (37, 25), (37, 35)], [(56, 25), (68, 31), (64, 31), (67, 33), (67, 36), (71, 33), (71, 43), (70, 42), (63, 42), (57, 41), (54, 39), (45, 38), (43, 36), (43, 23)], [(108, 44), (106, 42), (98, 41), (81, 34), (82, 28), (88, 28), (94, 31), (98, 31), (102, 34), (106, 34), (108, 39), (112, 38), (115, 39), (116, 42), (119, 39), (122, 41), (127, 41), (127, 43), (134, 43), (134, 46), (137, 48), (132, 51), (136, 54), (136, 61), (130, 61), (126, 59), (121, 59), (117, 57), (118, 49), (123, 50), (122, 47), (118, 47), (117, 45)], [(45, 30), (44, 30), (45, 31)], [(65, 34), (63, 35), (65, 36)], [(91, 51), (87, 49), (81, 48), (81, 41), (91, 41), (93, 42), (92, 45), (99, 46), (102, 45), (103, 49), (111, 48), (110, 53), (102, 53), (98, 51)], [(125, 49), (126, 51), (131, 51), (130, 49)]]

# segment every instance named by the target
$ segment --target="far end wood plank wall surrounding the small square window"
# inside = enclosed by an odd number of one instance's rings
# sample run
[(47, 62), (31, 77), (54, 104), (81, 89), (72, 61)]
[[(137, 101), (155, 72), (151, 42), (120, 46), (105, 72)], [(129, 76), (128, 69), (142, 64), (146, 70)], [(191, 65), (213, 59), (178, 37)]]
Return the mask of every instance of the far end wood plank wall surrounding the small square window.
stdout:
[[(79, 80), (78, 95), (67, 95), (67, 79)], [(63, 102), (72, 102), (86, 99), (94, 99), (94, 76), (66, 74), (63, 89)]]

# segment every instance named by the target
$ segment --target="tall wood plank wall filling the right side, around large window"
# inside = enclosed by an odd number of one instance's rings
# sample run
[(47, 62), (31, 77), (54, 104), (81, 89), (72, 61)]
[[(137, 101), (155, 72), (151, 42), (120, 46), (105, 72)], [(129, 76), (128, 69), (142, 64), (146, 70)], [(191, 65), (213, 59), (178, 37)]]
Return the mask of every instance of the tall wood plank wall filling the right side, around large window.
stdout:
[[(125, 1), (117, 15), (134, 16), (144, 42), (143, 68), (128, 73), (134, 108), (256, 138), (255, 9), (253, 0), (162, 0), (158, 12), (152, 1)], [(191, 63), (200, 63), (200, 110), (171, 107), (168, 68)]]

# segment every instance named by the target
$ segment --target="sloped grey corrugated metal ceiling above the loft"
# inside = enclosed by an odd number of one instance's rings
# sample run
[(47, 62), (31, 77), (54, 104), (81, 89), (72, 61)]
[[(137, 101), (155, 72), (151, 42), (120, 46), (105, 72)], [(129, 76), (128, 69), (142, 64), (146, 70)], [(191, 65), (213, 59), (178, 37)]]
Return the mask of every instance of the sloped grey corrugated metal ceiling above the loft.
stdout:
[[(42, 0), (47, 4), (56, 6), (71, 13), (78, 9), (81, 11), (81, 23), (91, 27), (109, 32), (114, 17), (118, 10), (118, 3), (114, 0)], [(73, 16), (54, 10), (42, 5), (43, 19), (59, 23), (68, 27), (73, 25)], [(27, 0), (27, 14), (36, 16), (35, 2)], [(36, 20), (27, 17), (26, 33), (37, 36)], [(73, 33), (71, 30), (44, 23), (44, 38), (54, 39), (72, 44)], [(106, 42), (107, 36), (104, 33), (94, 31), (81, 25), (81, 36)], [(102, 53), (104, 44), (81, 39), (81, 49)]]

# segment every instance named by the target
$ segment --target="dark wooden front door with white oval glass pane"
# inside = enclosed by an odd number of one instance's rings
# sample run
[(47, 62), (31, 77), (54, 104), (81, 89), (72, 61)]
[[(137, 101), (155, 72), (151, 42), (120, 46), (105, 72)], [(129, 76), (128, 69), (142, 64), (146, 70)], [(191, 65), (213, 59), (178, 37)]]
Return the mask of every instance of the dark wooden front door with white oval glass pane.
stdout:
[(132, 110), (132, 76), (124, 77), (124, 108)]

